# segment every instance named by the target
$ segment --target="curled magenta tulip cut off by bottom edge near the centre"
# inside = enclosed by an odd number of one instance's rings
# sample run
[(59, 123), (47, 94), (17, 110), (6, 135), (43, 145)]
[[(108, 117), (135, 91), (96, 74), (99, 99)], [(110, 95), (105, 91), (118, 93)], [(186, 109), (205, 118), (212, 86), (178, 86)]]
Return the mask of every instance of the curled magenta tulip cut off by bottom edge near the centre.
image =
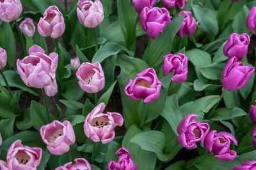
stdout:
[(116, 155), (120, 155), (118, 157), (117, 162), (111, 161), (108, 163), (108, 170), (136, 170), (137, 166), (134, 164), (131, 158), (131, 154), (127, 148), (120, 148), (119, 150), (116, 151)]

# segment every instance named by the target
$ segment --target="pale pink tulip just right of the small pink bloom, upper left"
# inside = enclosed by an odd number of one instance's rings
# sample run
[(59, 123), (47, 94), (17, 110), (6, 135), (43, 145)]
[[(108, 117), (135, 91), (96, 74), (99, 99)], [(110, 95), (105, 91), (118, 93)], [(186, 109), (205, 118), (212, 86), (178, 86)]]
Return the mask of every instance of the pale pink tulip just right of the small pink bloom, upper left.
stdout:
[(40, 18), (37, 29), (41, 36), (50, 36), (54, 39), (63, 34), (65, 22), (57, 6), (50, 6), (45, 10), (44, 18)]

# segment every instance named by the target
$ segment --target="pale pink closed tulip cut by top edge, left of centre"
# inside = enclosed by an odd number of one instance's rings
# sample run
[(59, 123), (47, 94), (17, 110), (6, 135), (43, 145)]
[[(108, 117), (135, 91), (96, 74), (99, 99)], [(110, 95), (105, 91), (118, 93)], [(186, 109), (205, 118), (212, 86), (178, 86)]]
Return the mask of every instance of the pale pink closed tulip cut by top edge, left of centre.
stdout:
[(104, 19), (104, 9), (99, 0), (79, 0), (77, 5), (77, 17), (84, 27), (97, 27)]

